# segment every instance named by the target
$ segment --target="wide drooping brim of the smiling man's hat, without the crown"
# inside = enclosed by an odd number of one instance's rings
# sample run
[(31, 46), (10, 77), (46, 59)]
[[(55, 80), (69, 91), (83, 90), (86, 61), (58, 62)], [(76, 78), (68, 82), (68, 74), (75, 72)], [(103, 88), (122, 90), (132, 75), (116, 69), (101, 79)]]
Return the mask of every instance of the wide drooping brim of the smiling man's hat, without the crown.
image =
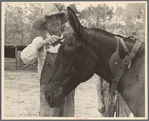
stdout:
[[(55, 16), (55, 15), (60, 16), (62, 25), (68, 21), (66, 15), (65, 15), (65, 12), (54, 12), (48, 16)], [(44, 26), (44, 21), (45, 21), (45, 16), (35, 19), (32, 23), (32, 29), (37, 30), (37, 31), (46, 30), (46, 28)]]

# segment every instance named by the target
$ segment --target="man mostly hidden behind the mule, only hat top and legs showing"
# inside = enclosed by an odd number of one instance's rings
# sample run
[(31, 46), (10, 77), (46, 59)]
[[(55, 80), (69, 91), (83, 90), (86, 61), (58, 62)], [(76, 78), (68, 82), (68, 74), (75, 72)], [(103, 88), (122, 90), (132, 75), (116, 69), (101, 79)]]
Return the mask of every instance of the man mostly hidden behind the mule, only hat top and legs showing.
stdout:
[[(127, 37), (125, 32), (121, 28), (116, 29), (113, 32), (113, 34)], [(108, 117), (109, 98), (110, 98), (109, 84), (101, 77), (98, 77), (97, 79), (97, 95), (98, 95), (98, 111), (101, 113), (102, 117)], [(133, 117), (133, 114), (131, 113), (123, 97), (119, 94), (117, 98), (118, 98), (117, 105), (119, 110), (119, 117), (130, 117), (130, 116)]]

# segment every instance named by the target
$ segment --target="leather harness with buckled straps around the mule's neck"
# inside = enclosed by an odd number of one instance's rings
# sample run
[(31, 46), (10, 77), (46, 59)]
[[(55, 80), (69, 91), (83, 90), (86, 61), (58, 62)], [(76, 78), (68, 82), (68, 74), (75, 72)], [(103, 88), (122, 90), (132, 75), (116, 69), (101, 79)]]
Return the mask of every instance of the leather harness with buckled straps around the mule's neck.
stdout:
[[(110, 69), (112, 71), (112, 74), (114, 76), (114, 79), (112, 80), (112, 84), (110, 85), (110, 104), (109, 104), (109, 112), (108, 116), (109, 117), (114, 117), (114, 113), (116, 112), (116, 117), (119, 117), (119, 111), (118, 111), (118, 95), (119, 93), (117, 92), (117, 84), (119, 80), (121, 79), (124, 71), (126, 68), (130, 68), (131, 66), (131, 61), (135, 57), (137, 51), (139, 50), (141, 46), (141, 41), (136, 40), (135, 45), (133, 46), (132, 50), (130, 51), (123, 38), (120, 36), (115, 36), (117, 39), (117, 48), (116, 51), (111, 55), (110, 60), (109, 60), (109, 65)], [(121, 42), (124, 50), (126, 51), (127, 55), (124, 57), (122, 60), (119, 56), (119, 42)], [(117, 102), (117, 103), (116, 103)]]

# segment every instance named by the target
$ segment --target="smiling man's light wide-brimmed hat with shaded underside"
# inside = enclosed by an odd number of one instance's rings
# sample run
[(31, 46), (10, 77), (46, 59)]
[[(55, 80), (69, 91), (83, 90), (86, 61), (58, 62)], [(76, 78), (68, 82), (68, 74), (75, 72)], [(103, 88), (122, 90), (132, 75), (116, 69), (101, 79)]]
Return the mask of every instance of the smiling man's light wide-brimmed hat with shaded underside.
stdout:
[(59, 15), (61, 18), (61, 23), (64, 24), (67, 22), (67, 17), (64, 11), (59, 11), (57, 7), (55, 7), (52, 3), (45, 4), (43, 9), (43, 15), (32, 23), (32, 28), (37, 31), (46, 30), (44, 26), (44, 22), (46, 21), (47, 17)]

